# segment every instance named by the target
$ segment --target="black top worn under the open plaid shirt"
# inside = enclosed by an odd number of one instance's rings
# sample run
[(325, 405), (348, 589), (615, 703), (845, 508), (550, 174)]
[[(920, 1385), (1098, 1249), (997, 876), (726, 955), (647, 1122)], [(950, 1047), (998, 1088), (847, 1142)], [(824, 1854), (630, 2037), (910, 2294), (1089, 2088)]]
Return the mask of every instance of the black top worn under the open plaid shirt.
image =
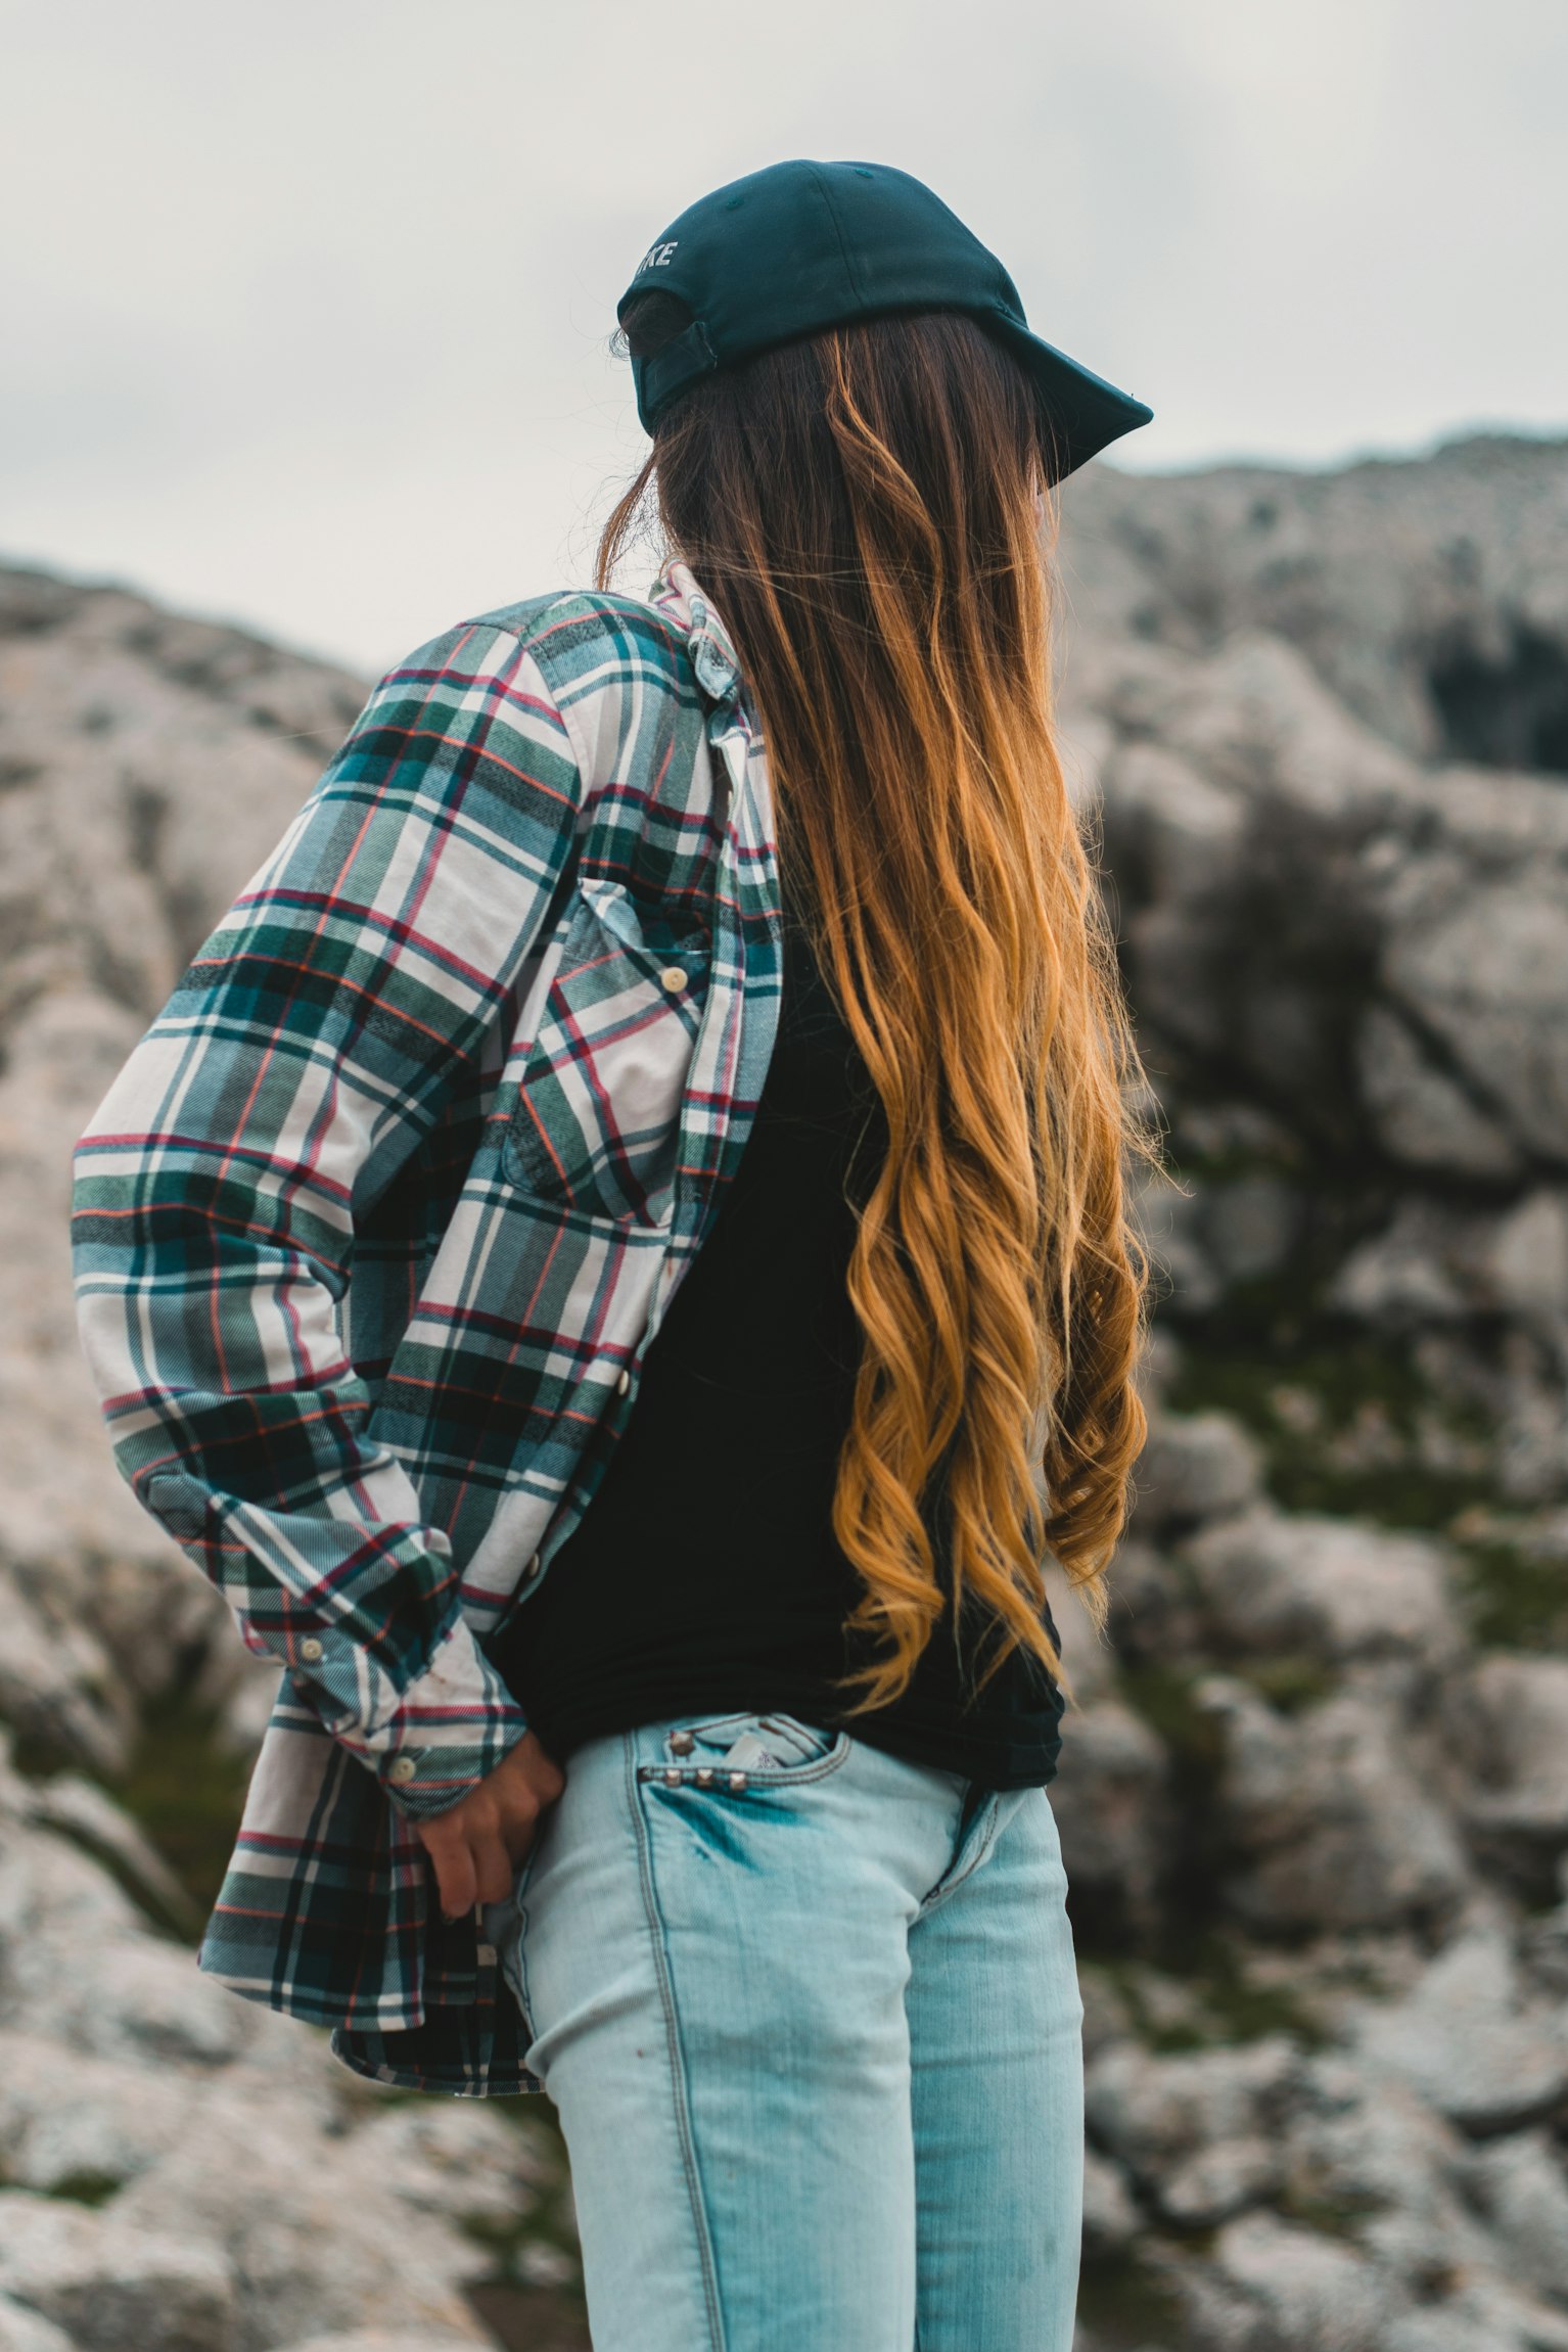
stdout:
[[(846, 1717), (835, 1691), (865, 1658), (844, 1637), (860, 1585), (830, 1522), (860, 1350), (846, 1190), (865, 1200), (884, 1150), (865, 1063), (785, 920), (778, 1040), (741, 1167), (597, 1494), (491, 1644), (557, 1759), (670, 1715), (785, 1712), (985, 1788), (1053, 1776), (1063, 1700), (1046, 1670), (1013, 1651), (971, 1698), (947, 1618), (893, 1705)], [(938, 1538), (940, 1498), (929, 1526)]]

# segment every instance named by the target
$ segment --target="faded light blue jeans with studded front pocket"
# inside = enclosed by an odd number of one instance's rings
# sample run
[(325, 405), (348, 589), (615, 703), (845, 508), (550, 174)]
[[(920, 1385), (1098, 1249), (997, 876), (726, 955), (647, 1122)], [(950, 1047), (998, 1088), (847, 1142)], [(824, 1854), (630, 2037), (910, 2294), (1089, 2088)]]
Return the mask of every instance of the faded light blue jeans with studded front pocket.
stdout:
[(595, 2352), (1067, 2352), (1081, 2004), (1044, 1790), (788, 1715), (592, 1740), (494, 1919)]

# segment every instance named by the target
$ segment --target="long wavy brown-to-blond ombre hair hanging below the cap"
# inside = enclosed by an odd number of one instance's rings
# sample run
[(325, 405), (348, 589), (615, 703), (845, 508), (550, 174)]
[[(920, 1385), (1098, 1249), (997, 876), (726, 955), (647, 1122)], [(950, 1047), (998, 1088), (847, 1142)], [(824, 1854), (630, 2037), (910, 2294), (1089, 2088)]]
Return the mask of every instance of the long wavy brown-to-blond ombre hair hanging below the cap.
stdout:
[[(644, 296), (635, 353), (689, 322)], [(947, 1606), (1060, 1677), (1044, 1555), (1103, 1618), (1145, 1418), (1124, 1209), (1135, 1054), (1051, 715), (1048, 421), (957, 313), (717, 372), (599, 541), (651, 527), (712, 595), (766, 741), (778, 858), (886, 1117), (832, 1531), (860, 1576), (849, 1712)]]

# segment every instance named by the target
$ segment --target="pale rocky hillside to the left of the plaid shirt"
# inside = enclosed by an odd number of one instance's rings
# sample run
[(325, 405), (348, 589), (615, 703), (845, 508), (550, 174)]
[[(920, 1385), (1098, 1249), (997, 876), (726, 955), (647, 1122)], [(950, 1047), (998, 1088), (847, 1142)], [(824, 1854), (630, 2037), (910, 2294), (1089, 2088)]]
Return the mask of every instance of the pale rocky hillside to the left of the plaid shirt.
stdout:
[(585, 2340), (527, 2103), (376, 2093), (195, 1973), (275, 1677), (120, 1486), (71, 1312), (71, 1143), (360, 701), (0, 572), (0, 2352)]

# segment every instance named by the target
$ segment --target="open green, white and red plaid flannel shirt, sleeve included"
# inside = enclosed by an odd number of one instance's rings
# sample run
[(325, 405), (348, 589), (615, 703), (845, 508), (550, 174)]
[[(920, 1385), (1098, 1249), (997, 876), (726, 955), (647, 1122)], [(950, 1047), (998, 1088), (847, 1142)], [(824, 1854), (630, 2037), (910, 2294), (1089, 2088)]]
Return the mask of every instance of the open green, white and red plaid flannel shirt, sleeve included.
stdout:
[(762, 741), (677, 564), (383, 677), (78, 1148), (120, 1470), (284, 1668), (200, 1964), (360, 2072), (531, 2086), (414, 1823), (527, 1729), (487, 1639), (628, 1421), (778, 981)]

